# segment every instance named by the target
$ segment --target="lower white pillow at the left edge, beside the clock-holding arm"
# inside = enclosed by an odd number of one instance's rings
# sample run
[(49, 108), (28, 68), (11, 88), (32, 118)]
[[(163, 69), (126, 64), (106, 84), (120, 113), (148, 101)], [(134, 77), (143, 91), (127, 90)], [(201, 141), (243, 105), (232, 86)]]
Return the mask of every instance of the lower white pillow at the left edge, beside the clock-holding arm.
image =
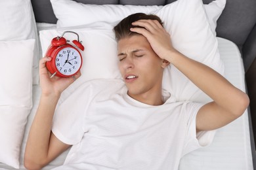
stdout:
[(20, 146), (32, 109), (34, 39), (0, 41), (0, 162), (19, 168)]

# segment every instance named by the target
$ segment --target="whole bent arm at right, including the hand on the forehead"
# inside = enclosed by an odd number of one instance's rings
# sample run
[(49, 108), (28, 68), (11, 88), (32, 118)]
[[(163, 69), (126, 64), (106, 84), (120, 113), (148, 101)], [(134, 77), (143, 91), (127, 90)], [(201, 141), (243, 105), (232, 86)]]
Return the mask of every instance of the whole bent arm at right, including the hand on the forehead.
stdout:
[(131, 31), (144, 35), (161, 59), (175, 65), (179, 71), (213, 99), (213, 102), (207, 103), (198, 111), (196, 117), (197, 131), (225, 126), (244, 113), (249, 105), (247, 95), (232, 86), (213, 69), (187, 58), (175, 50), (171, 44), (169, 33), (157, 21), (139, 20), (133, 25), (144, 27), (136, 27)]

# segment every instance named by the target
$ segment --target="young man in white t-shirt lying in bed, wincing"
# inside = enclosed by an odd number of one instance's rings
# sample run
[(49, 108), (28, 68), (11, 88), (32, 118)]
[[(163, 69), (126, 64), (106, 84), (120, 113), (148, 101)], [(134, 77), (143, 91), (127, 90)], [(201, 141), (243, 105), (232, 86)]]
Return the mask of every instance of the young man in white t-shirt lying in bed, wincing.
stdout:
[[(41, 169), (71, 145), (59, 169), (178, 169), (184, 154), (211, 143), (212, 130), (249, 105), (247, 95), (223, 76), (175, 50), (157, 16), (133, 14), (114, 30), (123, 81), (87, 82), (55, 114), (60, 94), (74, 79), (49, 78), (45, 62), (51, 58), (41, 59), (42, 94), (26, 146), (28, 169)], [(177, 102), (162, 90), (169, 63), (213, 102)]]

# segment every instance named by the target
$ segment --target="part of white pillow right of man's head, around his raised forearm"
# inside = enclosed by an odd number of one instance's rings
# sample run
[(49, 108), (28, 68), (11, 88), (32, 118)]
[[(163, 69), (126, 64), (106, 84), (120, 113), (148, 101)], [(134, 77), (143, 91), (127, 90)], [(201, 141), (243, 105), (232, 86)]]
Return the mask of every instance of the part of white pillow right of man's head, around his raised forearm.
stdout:
[[(182, 11), (182, 12), (181, 12)], [(201, 0), (178, 0), (154, 12), (164, 22), (173, 46), (185, 56), (208, 65), (224, 75), (217, 38), (211, 31)], [(167, 67), (163, 88), (179, 101), (209, 102), (211, 99), (175, 67)]]

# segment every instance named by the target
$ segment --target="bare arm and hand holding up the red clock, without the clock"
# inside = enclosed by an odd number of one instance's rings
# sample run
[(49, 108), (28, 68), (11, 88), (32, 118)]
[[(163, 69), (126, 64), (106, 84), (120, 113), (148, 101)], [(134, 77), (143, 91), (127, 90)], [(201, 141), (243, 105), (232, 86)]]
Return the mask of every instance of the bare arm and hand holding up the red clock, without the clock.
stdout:
[[(60, 93), (72, 82), (73, 78), (49, 78), (45, 63), (51, 58), (43, 58), (39, 63), (41, 98), (26, 144), (24, 165), (27, 169), (41, 169), (70, 145), (59, 141), (51, 132), (54, 110)], [(75, 75), (78, 78), (80, 73)]]

